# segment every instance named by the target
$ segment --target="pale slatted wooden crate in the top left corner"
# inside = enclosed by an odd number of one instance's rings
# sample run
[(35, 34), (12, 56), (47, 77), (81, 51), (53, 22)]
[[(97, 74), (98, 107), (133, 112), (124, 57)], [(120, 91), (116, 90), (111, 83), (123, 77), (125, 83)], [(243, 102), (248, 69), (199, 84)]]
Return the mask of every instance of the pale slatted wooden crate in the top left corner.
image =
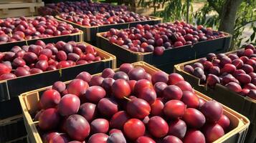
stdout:
[(37, 15), (40, 6), (44, 6), (42, 0), (0, 1), (0, 18)]

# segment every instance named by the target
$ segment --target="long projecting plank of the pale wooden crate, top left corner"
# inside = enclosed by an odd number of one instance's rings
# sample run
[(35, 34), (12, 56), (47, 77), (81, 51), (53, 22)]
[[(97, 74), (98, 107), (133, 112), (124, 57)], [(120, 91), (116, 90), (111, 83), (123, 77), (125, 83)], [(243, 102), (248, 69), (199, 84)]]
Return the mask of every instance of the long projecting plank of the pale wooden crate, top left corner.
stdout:
[(0, 4), (0, 9), (11, 9), (11, 8), (24, 8), (24, 7), (31, 7), (31, 6), (44, 6), (44, 2), (37, 2), (37, 3), (22, 3), (22, 4)]

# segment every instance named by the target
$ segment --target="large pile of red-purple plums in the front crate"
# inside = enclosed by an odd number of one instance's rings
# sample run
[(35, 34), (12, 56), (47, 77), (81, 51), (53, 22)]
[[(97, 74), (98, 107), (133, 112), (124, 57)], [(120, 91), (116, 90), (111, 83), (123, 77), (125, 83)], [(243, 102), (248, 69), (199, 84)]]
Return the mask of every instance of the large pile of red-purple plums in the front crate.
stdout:
[(214, 142), (230, 130), (222, 105), (196, 96), (180, 74), (122, 64), (44, 91), (34, 116), (43, 142)]

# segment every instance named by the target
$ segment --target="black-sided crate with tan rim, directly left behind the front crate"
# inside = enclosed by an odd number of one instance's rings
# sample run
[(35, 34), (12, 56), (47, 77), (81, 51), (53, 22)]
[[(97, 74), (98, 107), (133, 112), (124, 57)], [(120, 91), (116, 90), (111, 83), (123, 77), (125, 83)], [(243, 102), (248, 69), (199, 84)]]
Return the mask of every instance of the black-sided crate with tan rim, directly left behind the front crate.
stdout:
[(77, 74), (87, 71), (96, 74), (105, 68), (115, 68), (115, 56), (96, 48), (98, 54), (103, 55), (101, 61), (94, 61), (90, 64), (71, 66), (54, 71), (45, 71), (41, 74), (32, 74), (16, 79), (9, 79), (0, 82), (0, 102), (19, 96), (24, 92), (47, 87), (56, 81), (68, 81), (74, 79)]

